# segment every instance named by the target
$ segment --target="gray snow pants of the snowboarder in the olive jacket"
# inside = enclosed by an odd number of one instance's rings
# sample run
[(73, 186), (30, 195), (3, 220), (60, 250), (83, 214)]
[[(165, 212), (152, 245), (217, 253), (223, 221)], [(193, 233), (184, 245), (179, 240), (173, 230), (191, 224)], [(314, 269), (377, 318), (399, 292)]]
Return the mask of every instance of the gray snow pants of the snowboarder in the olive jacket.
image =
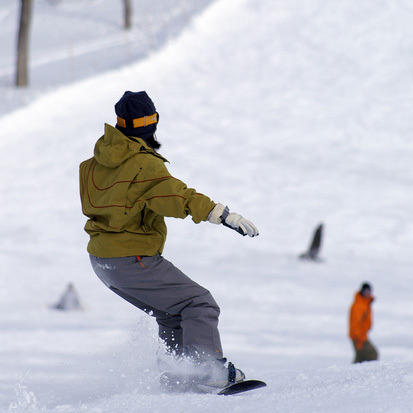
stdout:
[(156, 318), (159, 337), (177, 355), (222, 358), (219, 307), (211, 293), (161, 255), (98, 258), (96, 275), (116, 294)]

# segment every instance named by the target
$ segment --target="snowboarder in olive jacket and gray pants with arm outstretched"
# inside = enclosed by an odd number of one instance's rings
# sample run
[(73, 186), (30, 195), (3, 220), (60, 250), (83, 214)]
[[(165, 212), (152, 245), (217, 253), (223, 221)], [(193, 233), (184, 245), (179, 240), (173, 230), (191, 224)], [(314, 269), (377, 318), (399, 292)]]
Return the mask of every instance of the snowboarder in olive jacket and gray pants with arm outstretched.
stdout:
[(168, 351), (196, 366), (195, 381), (217, 387), (229, 377), (242, 381), (241, 370), (225, 366), (211, 293), (162, 256), (164, 217), (191, 215), (195, 223), (222, 223), (250, 237), (258, 230), (171, 176), (158, 153), (159, 114), (146, 92), (125, 92), (115, 113), (116, 127), (105, 124), (94, 156), (80, 165), (92, 267), (112, 291), (156, 318)]

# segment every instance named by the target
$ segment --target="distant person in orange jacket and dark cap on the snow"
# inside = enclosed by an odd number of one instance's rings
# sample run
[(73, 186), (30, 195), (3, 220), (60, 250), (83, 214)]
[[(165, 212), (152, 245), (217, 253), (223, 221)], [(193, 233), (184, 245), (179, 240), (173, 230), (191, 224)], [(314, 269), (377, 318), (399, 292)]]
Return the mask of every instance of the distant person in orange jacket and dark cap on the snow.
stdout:
[(363, 283), (354, 297), (350, 309), (349, 336), (355, 350), (354, 363), (378, 359), (377, 349), (368, 340), (367, 333), (372, 325), (371, 303), (374, 297), (369, 283)]

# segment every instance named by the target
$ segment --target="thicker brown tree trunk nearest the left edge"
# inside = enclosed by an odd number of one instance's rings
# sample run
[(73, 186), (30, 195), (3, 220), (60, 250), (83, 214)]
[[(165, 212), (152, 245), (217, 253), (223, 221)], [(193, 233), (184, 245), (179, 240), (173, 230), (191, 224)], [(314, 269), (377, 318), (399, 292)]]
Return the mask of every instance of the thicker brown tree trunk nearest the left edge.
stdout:
[(27, 86), (29, 83), (29, 31), (32, 17), (32, 0), (21, 0), (20, 10), (16, 86)]

